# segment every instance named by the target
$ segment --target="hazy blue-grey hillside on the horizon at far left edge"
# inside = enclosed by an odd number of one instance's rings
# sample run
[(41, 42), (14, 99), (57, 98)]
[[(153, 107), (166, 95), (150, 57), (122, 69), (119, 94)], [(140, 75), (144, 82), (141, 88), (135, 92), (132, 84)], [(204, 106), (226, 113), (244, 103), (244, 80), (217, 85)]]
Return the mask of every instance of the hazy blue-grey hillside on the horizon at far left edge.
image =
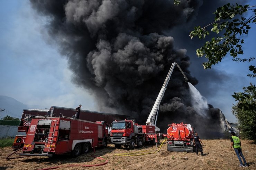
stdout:
[(0, 119), (6, 115), (20, 118), (23, 109), (45, 109), (43, 106), (23, 104), (8, 96), (0, 96), (0, 108), (2, 110), (4, 109), (4, 111), (0, 113)]

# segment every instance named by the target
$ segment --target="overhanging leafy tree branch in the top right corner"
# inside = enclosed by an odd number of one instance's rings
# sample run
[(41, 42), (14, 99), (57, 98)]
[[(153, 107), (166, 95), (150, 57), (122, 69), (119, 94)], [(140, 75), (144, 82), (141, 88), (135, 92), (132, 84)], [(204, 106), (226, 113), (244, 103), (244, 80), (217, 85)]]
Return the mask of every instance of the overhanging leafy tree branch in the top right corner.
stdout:
[(199, 39), (204, 39), (205, 36), (210, 34), (207, 30), (209, 26), (212, 26), (211, 32), (216, 34), (223, 32), (222, 36), (213, 37), (211, 41), (205, 42), (203, 47), (196, 50), (198, 57), (205, 56), (205, 58), (208, 58), (208, 61), (203, 63), (205, 69), (211, 68), (212, 64), (220, 62), (227, 53), (230, 53), (230, 56), (239, 60), (237, 58), (238, 54), (244, 53), (241, 46), (244, 40), (239, 39), (238, 36), (248, 34), (249, 29), (251, 29), (249, 24), (256, 23), (256, 10), (254, 9), (253, 15), (248, 18), (244, 18), (242, 14), (252, 7), (249, 7), (249, 5), (241, 6), (237, 3), (236, 5), (230, 5), (228, 3), (214, 12), (214, 22), (203, 28), (200, 26), (195, 27), (190, 32), (189, 36), (191, 39), (195, 36)]

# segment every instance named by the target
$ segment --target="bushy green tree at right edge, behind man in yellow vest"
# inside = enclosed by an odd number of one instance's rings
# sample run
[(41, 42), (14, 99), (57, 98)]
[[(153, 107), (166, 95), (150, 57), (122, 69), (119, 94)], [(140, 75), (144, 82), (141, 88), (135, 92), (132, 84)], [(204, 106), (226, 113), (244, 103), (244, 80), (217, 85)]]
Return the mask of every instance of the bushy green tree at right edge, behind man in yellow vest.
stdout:
[(232, 113), (238, 119), (240, 135), (256, 142), (256, 88), (251, 85), (243, 89), (244, 92), (232, 95), (238, 101)]

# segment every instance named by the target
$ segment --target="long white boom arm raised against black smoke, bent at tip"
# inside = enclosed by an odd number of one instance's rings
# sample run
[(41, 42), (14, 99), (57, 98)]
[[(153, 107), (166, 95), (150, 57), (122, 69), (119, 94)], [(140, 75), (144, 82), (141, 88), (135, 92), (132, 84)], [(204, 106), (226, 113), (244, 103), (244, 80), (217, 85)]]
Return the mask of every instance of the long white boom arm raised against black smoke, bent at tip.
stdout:
[(173, 62), (172, 63), (172, 66), (167, 74), (167, 77), (164, 81), (164, 84), (163, 84), (163, 87), (161, 88), (157, 98), (156, 98), (156, 101), (155, 101), (155, 104), (148, 116), (148, 119), (146, 121), (146, 125), (151, 125), (151, 126), (155, 126), (155, 131), (160, 131), (160, 129), (158, 127), (156, 127), (156, 120), (157, 120), (157, 115), (158, 115), (158, 109), (159, 109), (159, 105), (160, 105), (160, 102), (164, 96), (164, 92), (166, 90), (166, 87), (167, 87), (167, 84), (170, 80), (170, 77), (171, 77), (171, 74), (173, 72), (173, 69), (175, 67), (175, 65), (177, 65), (177, 67), (180, 69), (181, 73), (183, 74), (184, 78), (185, 78), (185, 82), (188, 82), (188, 78), (186, 77), (185, 73), (181, 70), (180, 66), (176, 63), (176, 62)]

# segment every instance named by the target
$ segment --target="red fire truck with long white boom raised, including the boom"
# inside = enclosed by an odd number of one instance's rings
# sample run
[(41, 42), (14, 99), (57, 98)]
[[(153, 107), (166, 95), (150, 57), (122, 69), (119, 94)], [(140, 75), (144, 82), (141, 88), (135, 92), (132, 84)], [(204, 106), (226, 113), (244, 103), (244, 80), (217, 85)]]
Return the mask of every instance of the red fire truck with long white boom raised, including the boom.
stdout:
[(111, 143), (114, 143), (116, 148), (120, 148), (122, 145), (125, 147), (129, 147), (130, 149), (134, 149), (135, 145), (138, 148), (141, 148), (146, 143), (156, 144), (157, 146), (158, 139), (167, 136), (163, 133), (160, 133), (160, 129), (156, 127), (156, 121), (160, 102), (164, 96), (164, 92), (166, 90), (167, 84), (170, 80), (175, 66), (180, 69), (181, 73), (185, 78), (185, 81), (188, 81), (188, 78), (186, 77), (180, 66), (176, 62), (173, 62), (164, 81), (164, 84), (156, 98), (154, 106), (148, 116), (146, 125), (138, 125), (132, 120), (121, 120), (112, 122), (110, 139)]

